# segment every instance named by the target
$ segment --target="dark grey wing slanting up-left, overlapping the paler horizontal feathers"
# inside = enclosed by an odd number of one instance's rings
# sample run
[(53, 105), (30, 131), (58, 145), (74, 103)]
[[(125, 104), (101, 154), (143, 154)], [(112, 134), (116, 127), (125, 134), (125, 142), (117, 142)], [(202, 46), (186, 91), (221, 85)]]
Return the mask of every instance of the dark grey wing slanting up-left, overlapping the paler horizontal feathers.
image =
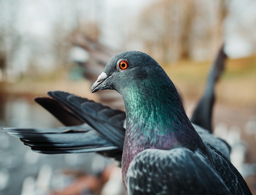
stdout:
[(125, 112), (62, 91), (48, 92), (48, 95), (118, 146), (119, 149), (123, 149)]

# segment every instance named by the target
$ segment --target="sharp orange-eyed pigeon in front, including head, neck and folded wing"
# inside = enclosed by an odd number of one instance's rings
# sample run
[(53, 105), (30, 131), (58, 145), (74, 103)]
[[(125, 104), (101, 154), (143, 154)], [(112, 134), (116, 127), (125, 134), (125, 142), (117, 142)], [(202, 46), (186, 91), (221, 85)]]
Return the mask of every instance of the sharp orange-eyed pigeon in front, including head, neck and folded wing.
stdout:
[(196, 132), (174, 84), (149, 55), (112, 57), (91, 92), (105, 89), (120, 93), (125, 105), (127, 194), (251, 194), (233, 164)]

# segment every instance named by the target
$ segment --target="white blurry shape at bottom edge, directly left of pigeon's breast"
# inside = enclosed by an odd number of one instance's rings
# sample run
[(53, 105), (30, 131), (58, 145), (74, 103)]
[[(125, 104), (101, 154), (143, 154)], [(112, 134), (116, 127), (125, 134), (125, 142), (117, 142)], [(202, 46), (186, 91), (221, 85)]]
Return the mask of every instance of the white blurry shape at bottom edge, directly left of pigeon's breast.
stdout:
[(101, 195), (120, 195), (123, 192), (121, 169), (113, 167), (109, 180), (104, 185)]

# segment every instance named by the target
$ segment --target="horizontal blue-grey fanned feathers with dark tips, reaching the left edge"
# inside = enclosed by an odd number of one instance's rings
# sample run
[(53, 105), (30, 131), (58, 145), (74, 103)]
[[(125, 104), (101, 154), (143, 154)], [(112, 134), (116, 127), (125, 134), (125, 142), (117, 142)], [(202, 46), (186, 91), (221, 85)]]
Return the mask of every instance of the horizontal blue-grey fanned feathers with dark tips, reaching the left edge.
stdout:
[(43, 154), (103, 152), (119, 150), (88, 124), (57, 128), (4, 128), (25, 145)]

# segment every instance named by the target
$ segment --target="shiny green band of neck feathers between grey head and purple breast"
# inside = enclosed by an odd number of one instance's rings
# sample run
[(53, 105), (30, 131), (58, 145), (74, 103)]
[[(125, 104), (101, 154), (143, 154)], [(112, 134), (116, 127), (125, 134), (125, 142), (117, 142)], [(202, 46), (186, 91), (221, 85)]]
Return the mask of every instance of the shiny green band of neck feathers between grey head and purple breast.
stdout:
[[(158, 134), (179, 131), (184, 124), (192, 126), (172, 81), (163, 71), (124, 87), (123, 97), (127, 124), (137, 123), (156, 129)], [(133, 128), (134, 129), (134, 128)], [(146, 132), (144, 132), (146, 133)]]

